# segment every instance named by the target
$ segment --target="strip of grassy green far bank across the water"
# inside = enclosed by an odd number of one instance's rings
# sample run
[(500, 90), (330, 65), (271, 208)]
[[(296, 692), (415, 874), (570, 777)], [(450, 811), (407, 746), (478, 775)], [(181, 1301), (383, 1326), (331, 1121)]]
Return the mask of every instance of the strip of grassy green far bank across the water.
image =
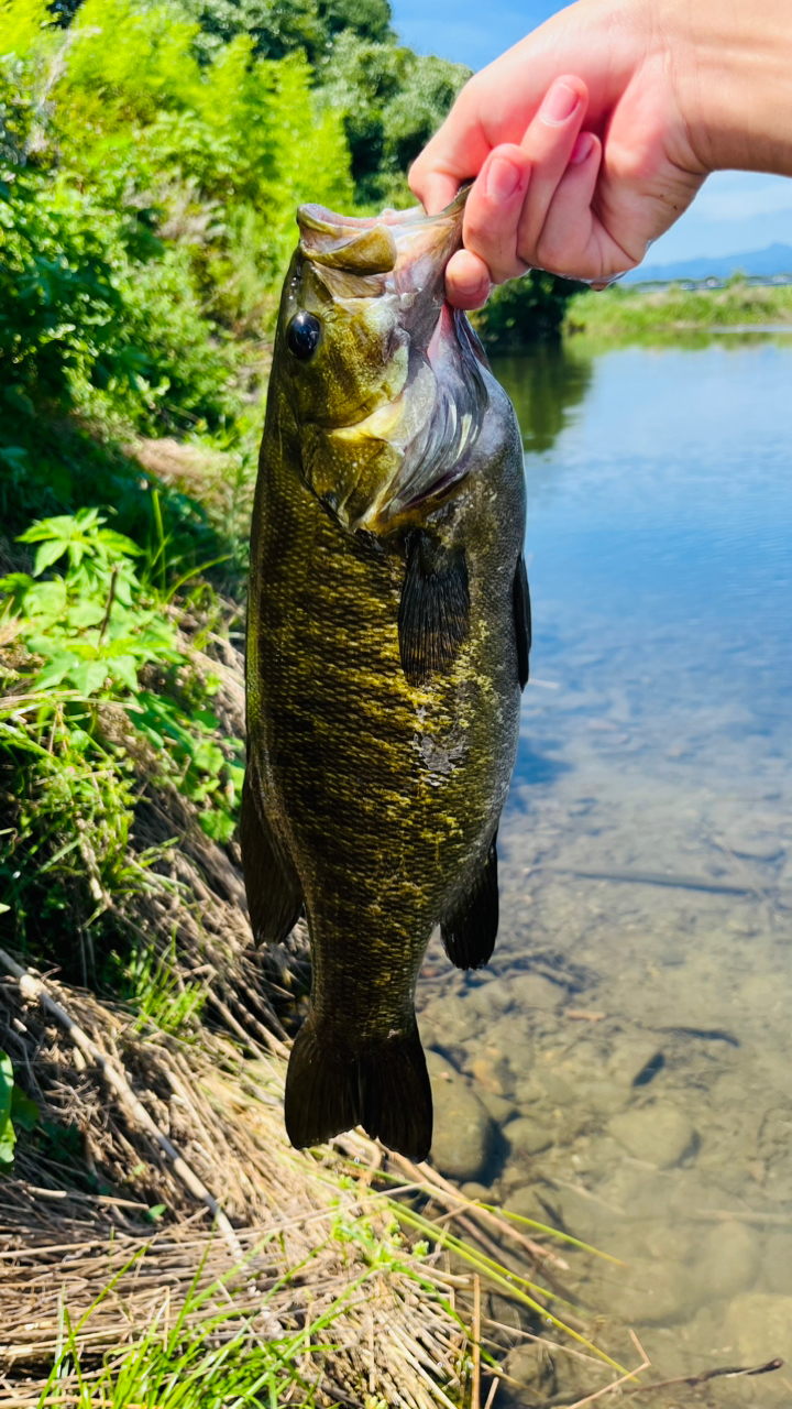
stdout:
[(630, 289), (612, 285), (576, 294), (564, 333), (592, 340), (651, 340), (709, 333), (792, 330), (792, 286), (731, 279), (723, 289)]

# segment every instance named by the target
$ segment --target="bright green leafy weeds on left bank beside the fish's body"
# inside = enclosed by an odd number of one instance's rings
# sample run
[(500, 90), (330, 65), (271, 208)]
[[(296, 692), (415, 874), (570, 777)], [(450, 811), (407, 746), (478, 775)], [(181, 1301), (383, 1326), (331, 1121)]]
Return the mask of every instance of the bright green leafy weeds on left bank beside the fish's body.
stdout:
[(17, 944), (49, 958), (59, 933), (76, 930), (87, 974), (93, 933), (124, 933), (135, 896), (165, 885), (152, 869), (159, 852), (130, 848), (141, 768), (151, 786), (189, 797), (207, 836), (225, 843), (242, 743), (221, 737), (209, 707), (218, 682), (194, 668), (176, 612), (144, 581), (156, 554), (94, 509), (37, 523), (23, 540), (37, 545), (34, 572), (0, 579), (0, 627), (14, 643), (14, 665), (0, 661), (14, 685), (0, 702), (13, 799), (13, 826), (0, 833), (6, 923)]

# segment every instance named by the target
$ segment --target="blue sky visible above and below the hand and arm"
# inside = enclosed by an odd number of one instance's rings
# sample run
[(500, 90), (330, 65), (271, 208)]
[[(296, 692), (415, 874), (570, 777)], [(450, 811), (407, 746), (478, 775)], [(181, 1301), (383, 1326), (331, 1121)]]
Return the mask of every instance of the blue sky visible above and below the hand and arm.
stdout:
[[(392, 0), (395, 25), (420, 54), (481, 69), (523, 38), (558, 4), (528, 0)], [(698, 255), (730, 255), (792, 244), (792, 179), (754, 172), (716, 172), (691, 210), (648, 254), (651, 263)]]

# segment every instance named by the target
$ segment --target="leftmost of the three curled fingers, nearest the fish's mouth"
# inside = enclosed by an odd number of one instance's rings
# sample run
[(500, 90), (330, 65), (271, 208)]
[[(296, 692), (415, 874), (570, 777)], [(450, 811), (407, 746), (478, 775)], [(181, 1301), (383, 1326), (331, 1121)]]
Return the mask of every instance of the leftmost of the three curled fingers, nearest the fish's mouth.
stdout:
[(468, 196), (462, 227), (465, 249), (485, 262), (495, 283), (523, 273), (517, 228), (530, 175), (526, 154), (513, 144), (503, 144), (489, 154)]

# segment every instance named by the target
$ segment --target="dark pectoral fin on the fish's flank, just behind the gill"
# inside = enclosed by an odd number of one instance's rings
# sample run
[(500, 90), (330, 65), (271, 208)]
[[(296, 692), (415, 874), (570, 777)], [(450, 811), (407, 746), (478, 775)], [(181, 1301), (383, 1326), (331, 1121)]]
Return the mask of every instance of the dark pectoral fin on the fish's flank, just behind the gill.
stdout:
[(399, 604), (399, 652), (410, 685), (450, 671), (468, 634), (471, 593), (464, 548), (445, 548), (421, 528), (407, 538)]

